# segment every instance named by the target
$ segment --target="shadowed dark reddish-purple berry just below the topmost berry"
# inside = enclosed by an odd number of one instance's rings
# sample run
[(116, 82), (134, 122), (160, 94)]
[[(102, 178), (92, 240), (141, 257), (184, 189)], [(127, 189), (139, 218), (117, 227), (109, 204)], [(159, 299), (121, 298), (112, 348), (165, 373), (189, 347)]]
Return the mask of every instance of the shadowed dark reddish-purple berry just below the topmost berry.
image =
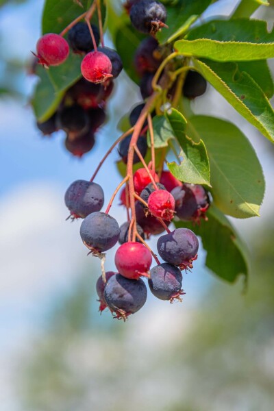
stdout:
[(160, 53), (157, 55), (158, 46), (158, 40), (153, 37), (147, 37), (140, 42), (134, 58), (134, 66), (140, 76), (155, 73), (160, 66), (162, 58)]

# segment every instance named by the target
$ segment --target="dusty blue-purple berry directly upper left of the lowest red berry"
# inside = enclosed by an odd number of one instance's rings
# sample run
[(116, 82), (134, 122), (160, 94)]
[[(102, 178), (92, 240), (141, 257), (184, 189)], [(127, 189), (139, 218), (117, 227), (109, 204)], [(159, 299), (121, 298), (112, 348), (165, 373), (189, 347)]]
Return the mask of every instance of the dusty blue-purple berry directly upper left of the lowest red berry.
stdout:
[(118, 241), (119, 235), (117, 221), (104, 212), (92, 212), (86, 216), (80, 227), (84, 245), (95, 254), (111, 249)]

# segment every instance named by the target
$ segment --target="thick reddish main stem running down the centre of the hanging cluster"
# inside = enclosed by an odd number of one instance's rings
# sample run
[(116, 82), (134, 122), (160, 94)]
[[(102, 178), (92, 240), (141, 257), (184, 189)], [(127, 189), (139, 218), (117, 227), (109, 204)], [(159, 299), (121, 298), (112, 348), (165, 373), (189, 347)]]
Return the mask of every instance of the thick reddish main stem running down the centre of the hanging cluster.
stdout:
[[(158, 93), (154, 92), (151, 97), (147, 100), (145, 107), (140, 112), (140, 116), (134, 126), (134, 132), (132, 134), (132, 139), (130, 140), (129, 150), (127, 154), (127, 175), (129, 177), (129, 201), (130, 201), (130, 208), (132, 209), (132, 241), (136, 238), (136, 212), (135, 212), (135, 199), (134, 199), (134, 180), (133, 180), (133, 160), (134, 160), (134, 146), (138, 141), (138, 137), (140, 136), (140, 132), (142, 131), (142, 126), (145, 123), (145, 119), (147, 118), (147, 114), (151, 107), (155, 104), (155, 99), (157, 99)], [(146, 164), (147, 166), (147, 164)], [(130, 228), (130, 226), (129, 226)], [(130, 238), (130, 237), (129, 237)]]

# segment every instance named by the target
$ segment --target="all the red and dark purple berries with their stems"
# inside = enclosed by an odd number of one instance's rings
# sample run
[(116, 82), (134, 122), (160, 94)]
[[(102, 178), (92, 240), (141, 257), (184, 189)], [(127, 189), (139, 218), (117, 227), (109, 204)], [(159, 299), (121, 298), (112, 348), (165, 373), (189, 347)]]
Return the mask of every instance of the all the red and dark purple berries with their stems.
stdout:
[[(98, 4), (92, 3), (92, 10), (99, 7)], [(176, 60), (169, 66), (167, 74), (161, 73), (162, 62), (172, 51), (170, 45), (160, 46), (155, 39), (158, 30), (166, 27), (166, 9), (162, 3), (127, 0), (125, 8), (134, 28), (149, 35), (140, 42), (134, 59), (136, 73), (141, 77), (140, 91), (144, 101), (132, 109), (129, 114), (132, 128), (114, 142), (91, 179), (73, 182), (64, 198), (69, 218), (83, 219), (80, 236), (84, 245), (89, 253), (101, 259), (102, 275), (97, 280), (99, 310), (102, 312), (108, 307), (115, 318), (124, 320), (140, 310), (147, 299), (147, 287), (141, 277), (148, 278), (149, 288), (158, 299), (182, 301), (181, 271), (192, 269), (199, 242), (190, 229), (170, 230), (169, 225), (173, 219), (199, 224), (201, 218), (207, 219), (206, 211), (210, 206), (208, 192), (202, 186), (179, 182), (170, 171), (164, 170), (165, 151), (162, 160), (156, 164), (152, 123), (152, 117), (160, 110), (155, 105), (158, 95), (154, 86), (161, 75), (166, 88), (165, 97), (171, 101), (178, 98), (178, 87), (179, 96), (192, 99), (203, 94), (206, 82), (195, 71), (189, 70), (184, 73), (184, 81), (178, 82), (176, 75), (169, 74), (172, 69), (177, 70), (179, 63)], [(100, 18), (100, 13), (98, 16)], [(74, 53), (84, 55), (82, 78), (66, 90), (58, 110), (45, 123), (38, 123), (38, 127), (45, 135), (63, 129), (66, 132), (66, 149), (81, 156), (95, 143), (95, 132), (105, 121), (104, 109), (112, 92), (113, 79), (118, 77), (123, 64), (116, 51), (104, 47), (100, 30), (90, 25), (89, 12), (85, 22), (78, 20), (64, 29), (62, 35), (46, 34), (38, 40), (37, 59), (44, 66), (62, 64), (69, 55), (69, 47)], [(66, 32), (69, 43), (63, 37)], [(150, 149), (147, 145), (148, 129)], [(116, 145), (127, 171), (103, 212), (103, 189), (94, 179)], [(146, 162), (149, 150), (151, 161)], [(134, 164), (137, 167), (135, 173)], [(127, 221), (121, 226), (109, 214), (120, 189), (121, 204), (127, 212)], [(162, 234), (158, 238), (157, 249), (163, 263), (147, 244), (151, 236), (158, 234)], [(105, 273), (105, 252), (117, 242), (120, 246), (114, 259), (116, 272)], [(156, 265), (151, 268), (153, 258)]]

